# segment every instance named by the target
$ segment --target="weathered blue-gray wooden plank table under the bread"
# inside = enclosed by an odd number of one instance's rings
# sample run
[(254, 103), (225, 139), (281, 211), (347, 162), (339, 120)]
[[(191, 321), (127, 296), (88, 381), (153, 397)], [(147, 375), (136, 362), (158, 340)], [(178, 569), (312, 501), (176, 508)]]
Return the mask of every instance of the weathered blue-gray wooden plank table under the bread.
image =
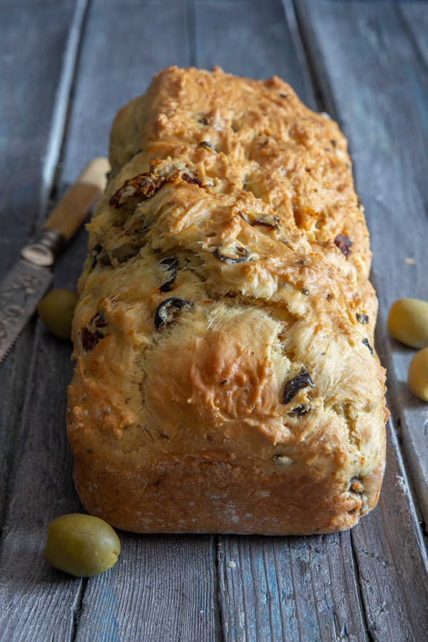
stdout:
[[(81, 511), (65, 429), (71, 349), (34, 319), (0, 367), (1, 641), (428, 639), (428, 410), (407, 389), (414, 351), (385, 329), (392, 301), (428, 300), (428, 4), (296, 7), (297, 19), (291, 0), (3, 0), (0, 277), (84, 163), (106, 154), (117, 109), (153, 73), (277, 73), (350, 140), (392, 411), (379, 504), (324, 536), (121, 533), (108, 573), (52, 569), (47, 525)], [(85, 254), (81, 230), (57, 286), (75, 287)]]

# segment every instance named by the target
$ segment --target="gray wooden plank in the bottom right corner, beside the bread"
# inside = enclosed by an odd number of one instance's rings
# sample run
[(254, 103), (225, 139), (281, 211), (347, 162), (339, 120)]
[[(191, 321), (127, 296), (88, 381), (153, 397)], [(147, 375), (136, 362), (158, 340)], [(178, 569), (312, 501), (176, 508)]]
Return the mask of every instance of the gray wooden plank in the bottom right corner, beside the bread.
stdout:
[(375, 641), (428, 636), (428, 561), (394, 429), (377, 509), (352, 529), (367, 625)]

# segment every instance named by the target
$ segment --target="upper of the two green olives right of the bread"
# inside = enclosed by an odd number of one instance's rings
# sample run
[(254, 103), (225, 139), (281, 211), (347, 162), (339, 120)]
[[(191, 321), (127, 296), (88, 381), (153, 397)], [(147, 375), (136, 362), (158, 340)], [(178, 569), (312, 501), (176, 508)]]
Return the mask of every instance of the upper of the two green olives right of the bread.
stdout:
[(395, 301), (388, 315), (388, 330), (410, 347), (428, 346), (428, 302), (420, 299)]

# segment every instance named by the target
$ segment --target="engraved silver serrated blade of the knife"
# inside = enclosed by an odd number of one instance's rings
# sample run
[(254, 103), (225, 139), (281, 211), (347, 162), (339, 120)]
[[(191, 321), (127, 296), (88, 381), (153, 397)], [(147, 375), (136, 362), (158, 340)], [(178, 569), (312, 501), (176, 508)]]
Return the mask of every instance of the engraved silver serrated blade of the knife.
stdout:
[(0, 283), (0, 363), (54, 280), (47, 267), (19, 259)]

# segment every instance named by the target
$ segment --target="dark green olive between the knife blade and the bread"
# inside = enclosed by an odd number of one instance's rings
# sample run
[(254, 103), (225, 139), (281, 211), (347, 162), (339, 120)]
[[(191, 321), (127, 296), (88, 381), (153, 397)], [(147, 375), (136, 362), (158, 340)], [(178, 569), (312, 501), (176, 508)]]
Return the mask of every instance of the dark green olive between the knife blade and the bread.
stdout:
[(66, 341), (71, 340), (71, 322), (78, 294), (58, 288), (39, 303), (39, 317), (46, 330)]

